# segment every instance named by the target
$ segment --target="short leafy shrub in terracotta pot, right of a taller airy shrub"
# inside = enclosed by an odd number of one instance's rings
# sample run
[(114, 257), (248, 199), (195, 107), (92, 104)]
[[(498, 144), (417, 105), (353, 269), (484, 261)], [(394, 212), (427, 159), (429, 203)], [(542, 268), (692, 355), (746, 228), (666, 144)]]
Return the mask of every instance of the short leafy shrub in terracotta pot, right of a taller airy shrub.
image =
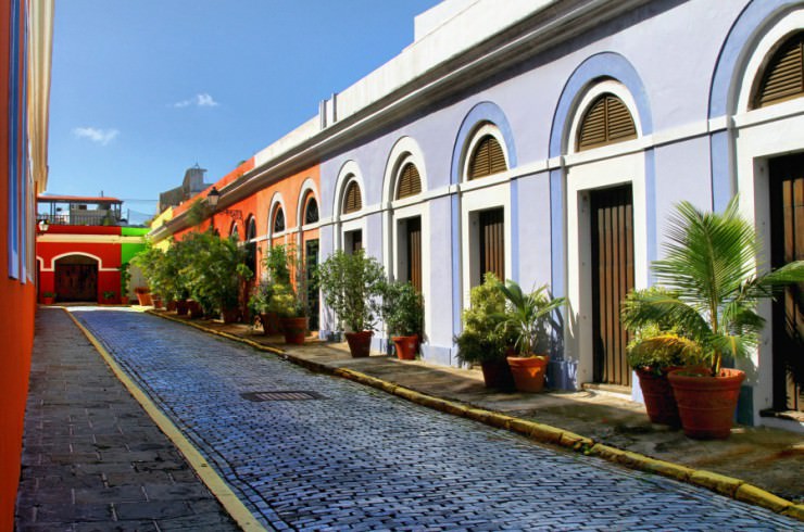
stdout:
[(386, 322), (400, 360), (413, 360), (418, 352), (424, 304), (422, 294), (410, 282), (384, 282), (379, 314)]

